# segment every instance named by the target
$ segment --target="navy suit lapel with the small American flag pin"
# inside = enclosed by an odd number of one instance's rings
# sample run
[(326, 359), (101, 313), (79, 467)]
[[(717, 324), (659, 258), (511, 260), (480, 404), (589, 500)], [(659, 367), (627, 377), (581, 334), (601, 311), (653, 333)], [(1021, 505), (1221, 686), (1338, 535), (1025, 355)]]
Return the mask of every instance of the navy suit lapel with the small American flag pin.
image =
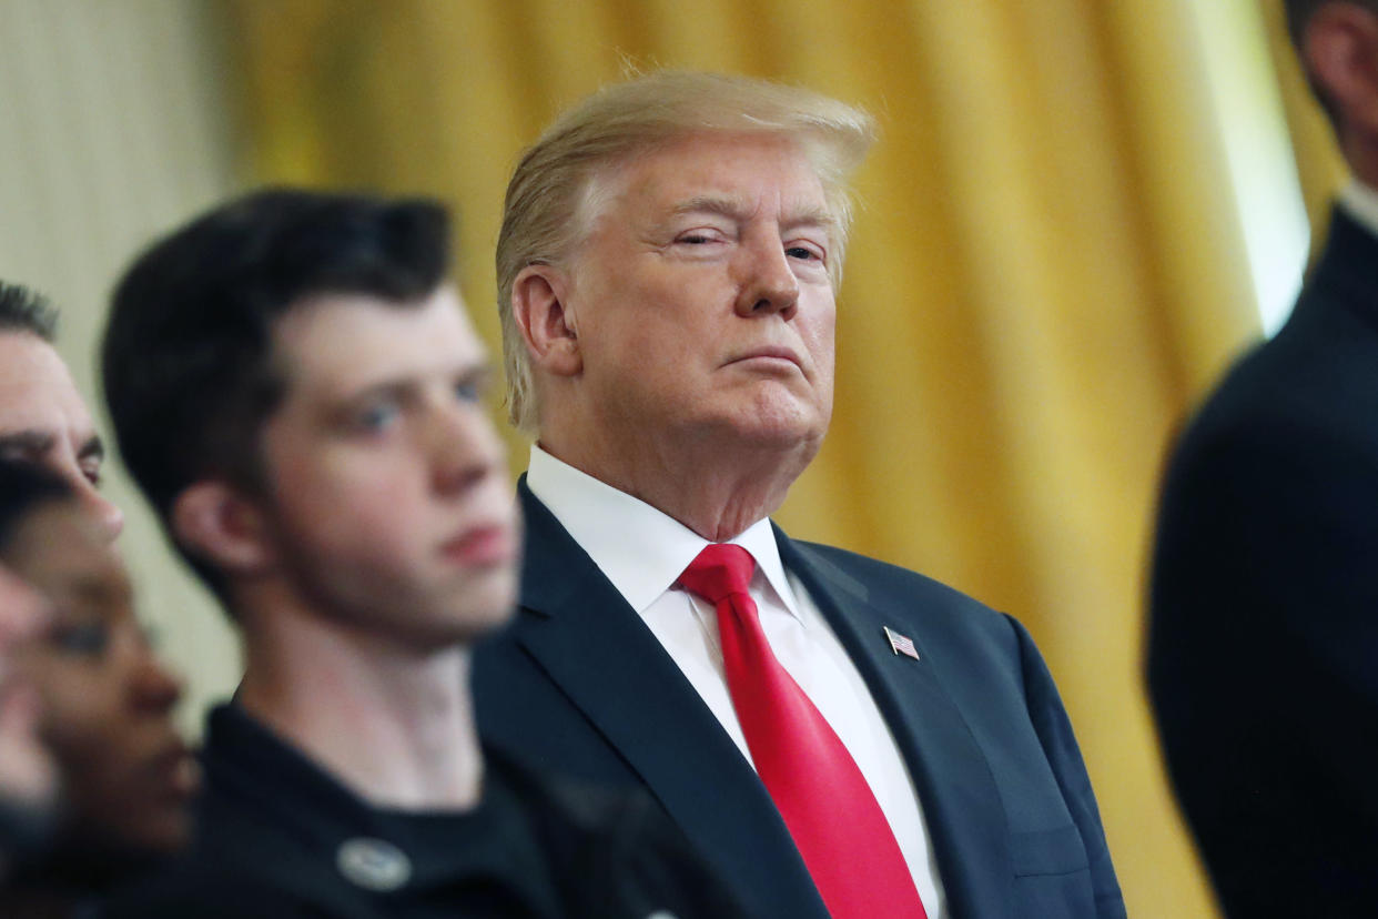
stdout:
[(904, 755), (951, 913), (1010, 915), (1013, 861), (999, 788), (960, 710), (929, 665), (922, 637), (908, 635), (919, 660), (896, 654), (882, 631), (896, 624), (894, 617), (871, 603), (865, 584), (779, 528), (776, 539), (781, 561), (847, 649)]

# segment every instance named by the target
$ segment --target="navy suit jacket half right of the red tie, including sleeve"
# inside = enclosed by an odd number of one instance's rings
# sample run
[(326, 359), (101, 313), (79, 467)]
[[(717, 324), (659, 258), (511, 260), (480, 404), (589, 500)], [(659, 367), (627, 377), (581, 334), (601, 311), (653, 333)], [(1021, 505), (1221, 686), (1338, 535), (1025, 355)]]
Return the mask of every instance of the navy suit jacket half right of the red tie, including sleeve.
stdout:
[[(1080, 748), (1051, 674), (1024, 626), (916, 572), (780, 536), (785, 565), (820, 601), (843, 643), (852, 643), (853, 660), (892, 732), (907, 737), (901, 745), (911, 756), (925, 809), (938, 810), (938, 845), (949, 845), (941, 840), (948, 818), (941, 813), (944, 802), (960, 796), (944, 787), (944, 776), (970, 777), (985, 766), (995, 785), (988, 794), (1005, 807), (999, 818), (1010, 831), (1011, 869), (1027, 879), (1013, 915), (1025, 915), (1022, 911), (1035, 904), (1027, 915), (1078, 915), (1068, 913), (1057, 897), (1040, 901), (1036, 879), (1084, 865), (1094, 905), (1087, 904), (1080, 915), (1123, 916), (1123, 896)], [(914, 639), (922, 667), (889, 665), (904, 661), (882, 643), (886, 626)], [(904, 679), (896, 681), (896, 670)], [(958, 740), (956, 729), (943, 740), (930, 733), (930, 722), (949, 711), (956, 712), (976, 752)], [(933, 751), (940, 744), (943, 751)], [(929, 754), (914, 755), (921, 750)], [(933, 758), (947, 761), (940, 772), (932, 769)], [(967, 817), (977, 814), (980, 809)]]

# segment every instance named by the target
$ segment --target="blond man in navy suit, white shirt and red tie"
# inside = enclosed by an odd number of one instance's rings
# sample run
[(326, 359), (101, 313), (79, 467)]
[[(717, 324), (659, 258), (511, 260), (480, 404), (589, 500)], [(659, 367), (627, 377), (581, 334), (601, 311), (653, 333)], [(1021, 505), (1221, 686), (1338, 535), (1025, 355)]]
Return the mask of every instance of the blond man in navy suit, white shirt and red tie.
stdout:
[(499, 309), (537, 442), (480, 727), (649, 788), (761, 916), (1123, 916), (1022, 627), (769, 521), (828, 426), (870, 142), (832, 99), (655, 73), (522, 158)]

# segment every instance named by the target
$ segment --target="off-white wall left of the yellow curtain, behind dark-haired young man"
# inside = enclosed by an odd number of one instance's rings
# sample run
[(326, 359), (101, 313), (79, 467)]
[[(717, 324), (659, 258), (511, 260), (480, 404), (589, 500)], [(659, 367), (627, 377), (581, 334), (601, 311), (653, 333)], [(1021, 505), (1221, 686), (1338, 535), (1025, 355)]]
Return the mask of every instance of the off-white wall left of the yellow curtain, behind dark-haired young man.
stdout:
[[(94, 355), (113, 281), (234, 187), (215, 25), (207, 0), (0, 0), (0, 277), (61, 306), (59, 350), (107, 440)], [(141, 609), (187, 678), (196, 730), (238, 679), (237, 646), (117, 457), (109, 471)]]

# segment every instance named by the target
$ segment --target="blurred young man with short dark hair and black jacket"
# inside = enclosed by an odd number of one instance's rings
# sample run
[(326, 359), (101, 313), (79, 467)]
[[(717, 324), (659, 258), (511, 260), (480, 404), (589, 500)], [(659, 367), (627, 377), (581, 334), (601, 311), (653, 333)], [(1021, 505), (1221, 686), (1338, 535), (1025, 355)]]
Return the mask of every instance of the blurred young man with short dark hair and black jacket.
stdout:
[(480, 748), (520, 528), (448, 251), (433, 203), (263, 192), (116, 289), (121, 451), (245, 649), (196, 850), (116, 915), (733, 915), (649, 801)]

